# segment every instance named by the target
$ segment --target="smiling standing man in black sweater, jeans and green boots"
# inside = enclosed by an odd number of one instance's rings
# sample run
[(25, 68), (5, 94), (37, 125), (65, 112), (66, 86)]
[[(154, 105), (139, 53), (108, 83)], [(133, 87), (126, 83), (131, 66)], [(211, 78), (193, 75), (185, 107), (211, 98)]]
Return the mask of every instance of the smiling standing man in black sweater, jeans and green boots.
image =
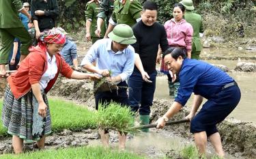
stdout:
[[(139, 110), (141, 125), (150, 123), (150, 106), (156, 89), (158, 45), (163, 51), (169, 48), (165, 27), (156, 22), (157, 10), (156, 2), (146, 1), (141, 20), (132, 27), (137, 42), (132, 44), (135, 50), (135, 67), (128, 81), (129, 102), (132, 111)], [(148, 132), (149, 129), (143, 131)]]

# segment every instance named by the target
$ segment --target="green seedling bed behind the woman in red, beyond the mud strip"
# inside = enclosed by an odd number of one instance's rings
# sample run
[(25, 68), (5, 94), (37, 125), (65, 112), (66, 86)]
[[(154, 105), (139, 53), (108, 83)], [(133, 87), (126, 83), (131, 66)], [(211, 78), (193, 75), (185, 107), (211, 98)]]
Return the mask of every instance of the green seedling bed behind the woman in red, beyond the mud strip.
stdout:
[[(63, 129), (79, 131), (86, 128), (97, 128), (96, 112), (63, 100), (49, 100), (52, 130), (60, 132)], [(0, 111), (2, 110), (3, 101), (0, 101)], [(7, 130), (3, 128), (0, 120), (0, 137), (7, 136)]]

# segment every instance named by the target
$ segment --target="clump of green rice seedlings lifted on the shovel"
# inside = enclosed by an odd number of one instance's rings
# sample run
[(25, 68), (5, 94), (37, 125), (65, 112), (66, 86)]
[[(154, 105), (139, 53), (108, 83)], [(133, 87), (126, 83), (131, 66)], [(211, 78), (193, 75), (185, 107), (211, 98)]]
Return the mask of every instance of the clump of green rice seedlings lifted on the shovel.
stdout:
[(110, 104), (99, 104), (97, 113), (97, 124), (100, 128), (118, 130), (119, 132), (134, 132), (130, 130), (134, 126), (134, 116), (127, 106), (116, 102)]

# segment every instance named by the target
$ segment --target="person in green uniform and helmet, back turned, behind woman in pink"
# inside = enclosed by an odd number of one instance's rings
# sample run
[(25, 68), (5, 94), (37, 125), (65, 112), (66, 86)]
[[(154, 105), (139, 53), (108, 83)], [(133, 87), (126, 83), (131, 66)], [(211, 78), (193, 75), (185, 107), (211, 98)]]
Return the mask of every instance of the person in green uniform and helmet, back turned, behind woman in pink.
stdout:
[(184, 19), (186, 22), (190, 23), (193, 27), (193, 39), (192, 39), (192, 51), (191, 51), (191, 59), (199, 59), (202, 44), (200, 41), (199, 33), (203, 33), (203, 20), (199, 14), (193, 12), (194, 6), (192, 0), (182, 0), (180, 1), (182, 5), (186, 8)]

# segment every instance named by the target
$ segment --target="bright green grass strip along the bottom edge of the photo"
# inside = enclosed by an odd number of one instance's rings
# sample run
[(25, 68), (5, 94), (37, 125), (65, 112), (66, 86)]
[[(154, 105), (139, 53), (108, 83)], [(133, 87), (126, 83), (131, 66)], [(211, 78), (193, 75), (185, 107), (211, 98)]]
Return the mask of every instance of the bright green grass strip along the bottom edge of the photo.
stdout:
[(87, 159), (143, 159), (142, 156), (138, 156), (136, 154), (131, 154), (128, 152), (113, 151), (110, 149), (104, 149), (103, 147), (72, 147), (68, 149), (48, 149), (44, 151), (35, 151), (20, 155), (3, 155), (1, 158), (8, 159), (25, 159), (25, 158), (33, 158), (33, 159), (73, 159), (73, 158), (87, 158)]

